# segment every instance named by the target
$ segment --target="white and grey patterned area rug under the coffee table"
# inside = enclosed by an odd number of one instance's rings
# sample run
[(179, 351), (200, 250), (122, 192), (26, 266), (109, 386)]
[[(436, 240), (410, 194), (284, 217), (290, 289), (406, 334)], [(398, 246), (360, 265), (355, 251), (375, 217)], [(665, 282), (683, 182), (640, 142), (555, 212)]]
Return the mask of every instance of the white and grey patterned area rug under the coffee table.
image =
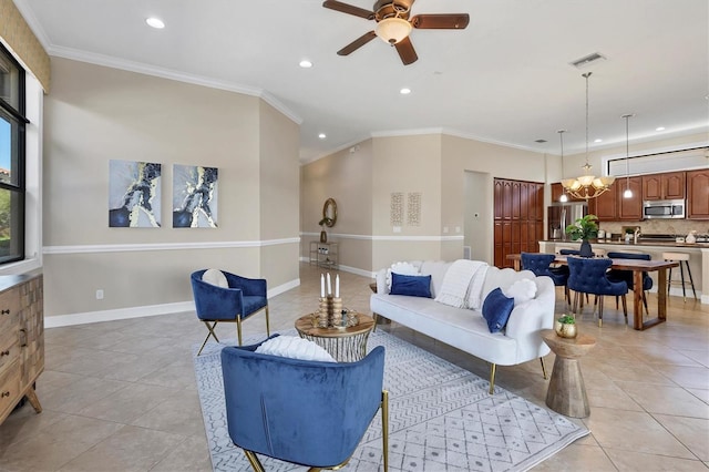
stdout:
[[(281, 334), (296, 336), (295, 330)], [(253, 337), (245, 343), (263, 339)], [(524, 471), (589, 432), (499, 387), (490, 396), (487, 380), (387, 332), (371, 334), (368, 348), (374, 346), (387, 351), (391, 471)], [(215, 471), (246, 472), (250, 465), (227, 431), (222, 347), (209, 343), (194, 357), (209, 453)], [(343, 470), (383, 469), (380, 420), (378, 413)], [(260, 459), (269, 472), (305, 470)]]

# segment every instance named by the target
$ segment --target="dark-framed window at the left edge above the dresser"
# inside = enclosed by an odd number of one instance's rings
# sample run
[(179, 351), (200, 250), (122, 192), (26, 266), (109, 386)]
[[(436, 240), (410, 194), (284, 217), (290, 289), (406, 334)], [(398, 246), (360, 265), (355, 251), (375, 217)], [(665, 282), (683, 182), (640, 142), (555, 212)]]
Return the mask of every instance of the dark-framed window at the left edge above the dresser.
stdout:
[(0, 44), (0, 264), (24, 258), (24, 70)]

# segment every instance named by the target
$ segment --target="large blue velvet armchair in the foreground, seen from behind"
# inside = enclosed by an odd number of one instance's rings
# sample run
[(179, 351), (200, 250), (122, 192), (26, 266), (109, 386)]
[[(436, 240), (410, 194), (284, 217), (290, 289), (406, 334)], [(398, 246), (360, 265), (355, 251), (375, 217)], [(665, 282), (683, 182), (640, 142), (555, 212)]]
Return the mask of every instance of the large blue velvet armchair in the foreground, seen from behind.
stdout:
[(255, 471), (264, 471), (256, 454), (311, 470), (346, 464), (380, 408), (388, 470), (383, 347), (342, 363), (263, 355), (257, 347), (222, 350), (229, 437)]

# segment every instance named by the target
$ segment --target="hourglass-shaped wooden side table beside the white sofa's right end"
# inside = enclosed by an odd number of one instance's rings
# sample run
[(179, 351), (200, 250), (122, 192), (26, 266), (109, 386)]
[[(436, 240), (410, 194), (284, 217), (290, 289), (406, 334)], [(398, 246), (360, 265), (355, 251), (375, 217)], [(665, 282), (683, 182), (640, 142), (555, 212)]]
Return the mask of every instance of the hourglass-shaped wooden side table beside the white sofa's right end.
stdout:
[(587, 335), (562, 338), (553, 329), (542, 330), (542, 339), (556, 355), (546, 391), (546, 406), (566, 417), (588, 417), (590, 407), (578, 360), (596, 346), (596, 339)]

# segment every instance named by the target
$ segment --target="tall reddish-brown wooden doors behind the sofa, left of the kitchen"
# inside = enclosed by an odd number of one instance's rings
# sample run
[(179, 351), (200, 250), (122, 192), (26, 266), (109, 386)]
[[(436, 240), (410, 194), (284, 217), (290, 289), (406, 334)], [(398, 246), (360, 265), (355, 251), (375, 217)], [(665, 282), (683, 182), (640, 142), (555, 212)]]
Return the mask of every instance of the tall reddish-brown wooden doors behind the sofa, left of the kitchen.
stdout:
[(512, 267), (507, 254), (537, 252), (544, 237), (544, 184), (494, 179), (494, 264)]

